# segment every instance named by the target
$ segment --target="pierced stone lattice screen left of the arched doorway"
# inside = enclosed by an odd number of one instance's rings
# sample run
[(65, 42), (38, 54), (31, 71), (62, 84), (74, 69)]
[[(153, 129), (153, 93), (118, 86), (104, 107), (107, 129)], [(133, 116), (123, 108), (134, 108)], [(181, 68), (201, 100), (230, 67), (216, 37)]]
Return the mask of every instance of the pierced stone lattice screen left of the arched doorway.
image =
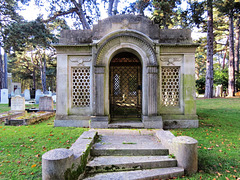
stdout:
[(90, 67), (72, 68), (72, 105), (90, 106)]

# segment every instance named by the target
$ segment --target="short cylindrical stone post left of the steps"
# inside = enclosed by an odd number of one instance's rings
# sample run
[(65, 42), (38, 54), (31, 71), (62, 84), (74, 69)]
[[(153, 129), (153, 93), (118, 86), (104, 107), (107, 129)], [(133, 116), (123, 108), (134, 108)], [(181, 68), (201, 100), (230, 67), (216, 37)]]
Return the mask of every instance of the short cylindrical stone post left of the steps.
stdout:
[(53, 149), (42, 156), (42, 179), (64, 180), (64, 173), (72, 167), (73, 151), (69, 149)]

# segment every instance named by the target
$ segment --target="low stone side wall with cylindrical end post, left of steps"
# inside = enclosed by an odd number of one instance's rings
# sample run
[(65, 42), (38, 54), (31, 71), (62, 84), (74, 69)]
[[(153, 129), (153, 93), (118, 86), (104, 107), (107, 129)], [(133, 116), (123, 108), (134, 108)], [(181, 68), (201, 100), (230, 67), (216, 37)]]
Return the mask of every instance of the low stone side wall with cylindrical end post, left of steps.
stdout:
[(97, 133), (84, 132), (70, 149), (53, 149), (42, 156), (42, 179), (82, 179)]

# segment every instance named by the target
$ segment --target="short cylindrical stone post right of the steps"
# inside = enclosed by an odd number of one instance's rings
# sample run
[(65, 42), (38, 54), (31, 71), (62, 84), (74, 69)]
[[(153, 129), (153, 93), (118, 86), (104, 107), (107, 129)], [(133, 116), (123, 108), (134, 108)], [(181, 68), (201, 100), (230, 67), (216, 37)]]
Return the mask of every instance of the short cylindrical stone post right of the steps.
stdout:
[(185, 174), (194, 174), (198, 169), (198, 141), (189, 136), (178, 136), (173, 138), (174, 153), (178, 166), (183, 167)]

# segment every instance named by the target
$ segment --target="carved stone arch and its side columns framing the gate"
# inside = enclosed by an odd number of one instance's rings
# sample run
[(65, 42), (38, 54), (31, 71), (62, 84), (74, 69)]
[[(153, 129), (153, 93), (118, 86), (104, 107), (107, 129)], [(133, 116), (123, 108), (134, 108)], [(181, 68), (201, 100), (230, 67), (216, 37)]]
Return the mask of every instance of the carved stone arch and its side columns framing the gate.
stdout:
[[(131, 52), (142, 62), (142, 119), (157, 117), (158, 62), (154, 43), (142, 33), (122, 31), (102, 38), (96, 44), (94, 58), (94, 118), (92, 121), (108, 121), (109, 116), (109, 64), (119, 52)], [(162, 125), (161, 125), (162, 126)], [(148, 128), (148, 125), (145, 126)]]

